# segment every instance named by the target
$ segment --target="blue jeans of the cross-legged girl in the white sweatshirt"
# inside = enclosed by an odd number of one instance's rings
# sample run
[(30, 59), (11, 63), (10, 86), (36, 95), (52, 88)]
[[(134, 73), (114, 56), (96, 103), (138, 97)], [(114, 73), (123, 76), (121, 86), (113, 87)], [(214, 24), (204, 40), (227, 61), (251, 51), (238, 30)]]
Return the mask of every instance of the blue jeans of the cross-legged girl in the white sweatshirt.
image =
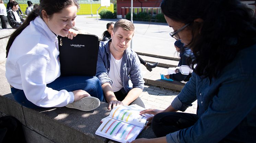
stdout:
[[(67, 91), (85, 90), (91, 96), (98, 98), (100, 101), (103, 100), (101, 84), (96, 76), (60, 76), (46, 86), (58, 91), (62, 89)], [(11, 92), (14, 99), (21, 105), (32, 109), (42, 108), (28, 101), (23, 90), (12, 87)]]

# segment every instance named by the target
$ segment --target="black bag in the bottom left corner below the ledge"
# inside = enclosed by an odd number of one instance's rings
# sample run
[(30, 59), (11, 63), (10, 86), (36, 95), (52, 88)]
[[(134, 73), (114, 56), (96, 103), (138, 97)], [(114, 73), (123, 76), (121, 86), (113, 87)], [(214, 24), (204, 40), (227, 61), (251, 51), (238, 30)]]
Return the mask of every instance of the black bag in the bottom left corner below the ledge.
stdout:
[(11, 116), (0, 117), (0, 143), (25, 143), (25, 136), (20, 121)]

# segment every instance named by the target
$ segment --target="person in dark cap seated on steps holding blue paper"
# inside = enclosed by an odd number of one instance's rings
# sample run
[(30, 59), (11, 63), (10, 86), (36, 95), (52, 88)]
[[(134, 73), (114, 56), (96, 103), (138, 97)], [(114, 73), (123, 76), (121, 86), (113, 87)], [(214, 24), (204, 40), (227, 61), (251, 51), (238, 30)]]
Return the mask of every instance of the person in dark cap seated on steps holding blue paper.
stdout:
[[(165, 75), (166, 78), (171, 78), (174, 81), (179, 81), (181, 83), (186, 83), (189, 81), (189, 78), (192, 76), (193, 70), (190, 66), (187, 65), (187, 58), (193, 55), (191, 49), (184, 46), (181, 40), (177, 40), (174, 43), (176, 51), (179, 52), (179, 57), (181, 58), (178, 63), (178, 68), (174, 71), (173, 74)], [(171, 68), (168, 69), (168, 71)]]

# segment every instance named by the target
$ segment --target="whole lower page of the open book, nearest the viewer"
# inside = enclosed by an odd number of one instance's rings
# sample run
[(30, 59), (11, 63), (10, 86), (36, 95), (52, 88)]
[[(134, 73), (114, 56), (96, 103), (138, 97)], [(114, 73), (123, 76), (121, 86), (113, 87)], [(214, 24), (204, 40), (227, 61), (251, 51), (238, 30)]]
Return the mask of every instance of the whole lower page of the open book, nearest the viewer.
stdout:
[(127, 141), (131, 142), (135, 140), (142, 129), (135, 125), (108, 118), (103, 121), (95, 134), (126, 143)]

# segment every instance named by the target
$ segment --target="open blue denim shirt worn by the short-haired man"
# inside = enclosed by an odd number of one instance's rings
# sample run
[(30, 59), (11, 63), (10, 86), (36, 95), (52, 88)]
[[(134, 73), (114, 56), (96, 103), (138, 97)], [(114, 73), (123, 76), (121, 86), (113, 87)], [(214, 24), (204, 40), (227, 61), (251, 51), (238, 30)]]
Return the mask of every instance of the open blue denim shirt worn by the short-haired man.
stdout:
[[(112, 85), (113, 83), (113, 81), (108, 77), (110, 68), (109, 43), (111, 41), (112, 39), (100, 42), (96, 76), (100, 80), (101, 84), (108, 82), (110, 85)], [(139, 57), (130, 48), (127, 48), (124, 51), (123, 59), (121, 61), (120, 76), (124, 87), (121, 89), (121, 91), (124, 94), (128, 93), (131, 89), (129, 86), (129, 80), (131, 80), (132, 88), (144, 88), (144, 80), (142, 77)]]

